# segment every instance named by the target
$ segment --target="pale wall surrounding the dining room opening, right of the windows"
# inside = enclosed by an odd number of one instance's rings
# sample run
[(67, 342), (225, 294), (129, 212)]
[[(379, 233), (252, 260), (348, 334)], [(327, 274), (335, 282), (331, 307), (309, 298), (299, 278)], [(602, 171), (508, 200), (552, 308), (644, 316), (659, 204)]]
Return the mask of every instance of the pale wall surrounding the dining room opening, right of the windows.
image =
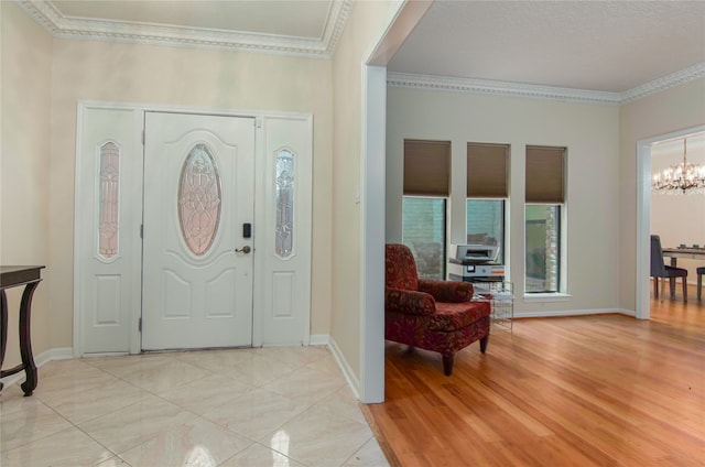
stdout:
[[(637, 142), (705, 124), (705, 78), (623, 105), (619, 109), (619, 276), (622, 308), (636, 308)], [(649, 232), (644, 232), (646, 236)], [(644, 239), (648, 241), (648, 238)], [(646, 252), (648, 254), (648, 250)], [(649, 263), (649, 258), (643, 258)], [(648, 284), (646, 284), (648, 286)]]

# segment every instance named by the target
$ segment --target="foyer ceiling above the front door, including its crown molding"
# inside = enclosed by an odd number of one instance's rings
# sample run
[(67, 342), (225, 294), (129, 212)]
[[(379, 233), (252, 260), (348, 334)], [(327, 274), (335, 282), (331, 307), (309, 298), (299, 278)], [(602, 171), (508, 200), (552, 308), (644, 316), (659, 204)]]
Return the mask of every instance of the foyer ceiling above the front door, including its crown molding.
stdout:
[[(2, 1), (2, 0), (0, 0)], [(54, 36), (329, 58), (352, 0), (15, 0)]]

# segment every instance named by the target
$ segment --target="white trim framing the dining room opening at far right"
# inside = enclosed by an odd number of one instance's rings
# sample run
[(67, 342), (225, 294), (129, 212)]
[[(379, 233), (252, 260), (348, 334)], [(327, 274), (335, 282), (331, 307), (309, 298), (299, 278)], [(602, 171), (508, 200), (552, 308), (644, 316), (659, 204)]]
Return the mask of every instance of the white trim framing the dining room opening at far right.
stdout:
[(705, 126), (687, 128), (637, 141), (637, 318), (651, 317), (651, 146), (660, 141), (705, 131)]

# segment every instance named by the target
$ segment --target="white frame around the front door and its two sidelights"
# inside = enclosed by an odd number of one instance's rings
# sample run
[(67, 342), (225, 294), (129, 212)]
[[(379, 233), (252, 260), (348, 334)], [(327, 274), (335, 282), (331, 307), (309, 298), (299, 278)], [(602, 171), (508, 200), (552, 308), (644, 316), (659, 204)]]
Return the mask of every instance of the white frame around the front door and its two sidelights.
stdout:
[[(239, 110), (239, 109), (215, 109), (215, 108), (200, 108), (200, 107), (184, 107), (184, 106), (160, 106), (160, 105), (152, 105), (152, 104), (133, 104), (133, 102), (104, 102), (104, 101), (91, 101), (91, 100), (80, 100), (77, 104), (77, 124), (76, 124), (76, 178), (74, 182), (74, 192), (75, 192), (75, 197), (74, 197), (74, 210), (75, 210), (75, 217), (74, 217), (74, 326), (73, 326), (73, 330), (74, 330), (74, 338), (73, 338), (73, 354), (74, 357), (82, 357), (84, 355), (84, 344), (83, 344), (83, 323), (82, 323), (82, 309), (80, 309), (80, 304), (79, 304), (79, 297), (80, 297), (80, 287), (82, 287), (82, 263), (79, 261), (79, 256), (76, 253), (77, 251), (79, 251), (79, 246), (83, 245), (83, 242), (87, 241), (88, 237), (91, 235), (91, 232), (84, 232), (82, 231), (82, 229), (79, 229), (79, 225), (80, 225), (80, 210), (79, 207), (82, 206), (82, 198), (84, 197), (84, 193), (83, 193), (83, 186), (79, 183), (80, 180), (83, 180), (83, 177), (86, 176), (91, 176), (90, 174), (85, 174), (82, 172), (82, 158), (86, 156), (85, 154), (82, 154), (82, 141), (83, 141), (83, 127), (84, 127), (84, 111), (86, 109), (90, 109), (90, 108), (95, 108), (95, 109), (112, 109), (112, 110), (131, 110), (135, 113), (135, 120), (139, 120), (140, 122), (142, 122), (141, 124), (137, 126), (135, 124), (135, 132), (139, 131), (141, 133), (142, 129), (143, 129), (143, 121), (144, 121), (144, 112), (147, 111), (155, 111), (155, 112), (173, 112), (173, 113), (205, 113), (205, 115), (212, 115), (212, 116), (224, 116), (224, 117), (248, 117), (248, 118), (254, 118), (256, 122), (257, 122), (257, 129), (259, 130), (262, 124), (267, 126), (267, 121), (268, 120), (296, 120), (302, 122), (302, 124), (305, 127), (305, 131), (307, 132), (306, 138), (308, 140), (308, 143), (305, 144), (305, 151), (308, 151), (310, 153), (306, 154), (306, 158), (308, 160), (306, 166), (306, 170), (303, 171), (303, 174), (305, 174), (305, 180), (300, 180), (300, 184), (306, 184), (306, 189), (307, 189), (307, 195), (311, 196), (311, 183), (312, 180), (311, 177), (313, 176), (313, 172), (312, 172), (312, 158), (313, 158), (313, 116), (311, 113), (303, 113), (303, 112), (272, 112), (272, 111), (257, 111), (257, 110)], [(137, 133), (137, 134), (140, 134)], [(267, 170), (267, 158), (271, 156), (272, 154), (267, 154), (267, 143), (268, 143), (268, 135), (264, 134), (264, 131), (257, 131), (256, 132), (256, 149), (254, 149), (254, 158), (256, 158), (256, 193), (254, 193), (254, 199), (256, 203), (258, 203), (258, 200), (265, 200), (265, 196), (268, 196), (268, 188), (265, 186), (265, 181), (267, 181), (267, 173), (264, 172)], [(142, 156), (143, 156), (143, 145), (140, 145), (140, 151), (142, 151)], [(307, 172), (307, 173), (306, 173)], [(142, 175), (140, 175), (141, 177)], [(139, 181), (140, 186), (142, 186), (142, 180)], [(308, 203), (310, 204), (310, 203)], [(304, 206), (304, 208), (307, 210), (307, 213), (310, 213), (310, 216), (312, 215), (311, 213), (311, 206)], [(270, 219), (267, 219), (267, 215), (264, 213), (265, 209), (257, 209), (256, 211), (256, 218), (254, 218), (254, 237), (253, 237), (253, 248), (254, 250), (258, 249), (258, 247), (260, 247), (259, 241), (262, 241), (262, 237), (263, 236), (258, 236), (257, 235), (257, 228), (258, 226), (264, 226), (267, 221), (269, 221)], [(132, 214), (132, 216), (134, 216), (133, 220), (137, 220), (137, 225), (141, 225), (141, 219), (142, 219), (142, 209), (135, 209), (135, 211)], [(311, 219), (311, 217), (310, 217)], [(308, 240), (310, 240), (310, 236), (311, 236), (311, 225), (307, 226), (307, 231), (305, 232), (308, 236)], [(137, 234), (139, 235), (139, 234)], [(259, 237), (259, 241), (258, 241), (258, 237)], [(303, 236), (302, 236), (303, 237)], [(311, 243), (311, 242), (308, 242)], [(141, 317), (141, 302), (139, 300), (140, 294), (141, 294), (141, 282), (142, 282), (142, 276), (141, 276), (141, 256), (142, 256), (142, 251), (141, 248), (140, 249), (135, 249), (139, 251), (132, 251), (131, 252), (131, 258), (133, 260), (133, 274), (130, 278), (130, 287), (132, 287), (133, 291), (133, 296), (137, 297), (135, 300), (132, 301), (132, 306), (130, 307), (131, 312), (130, 312), (130, 317), (129, 317), (129, 322), (130, 322), (130, 327), (131, 327), (131, 332), (130, 332), (130, 354), (139, 354), (142, 349), (141, 349), (141, 333), (139, 330), (139, 319)], [(261, 251), (264, 250), (264, 248), (260, 248)], [(306, 251), (303, 251), (306, 250)], [(308, 282), (308, 286), (305, 287), (305, 290), (300, 291), (300, 293), (297, 293), (297, 296), (300, 297), (300, 300), (302, 300), (302, 303), (305, 303), (304, 306), (302, 306), (302, 308), (305, 309), (304, 312), (304, 316), (303, 316), (303, 324), (302, 324), (302, 336), (301, 336), (301, 344), (303, 345), (308, 345), (310, 344), (310, 338), (311, 338), (311, 245), (308, 245), (306, 248), (302, 249), (301, 254), (302, 256), (307, 256), (308, 258), (308, 264), (307, 268), (305, 269), (305, 273), (307, 274), (307, 282)], [(261, 315), (263, 315), (263, 308), (262, 308), (262, 303), (264, 302), (264, 287), (262, 284), (262, 280), (265, 278), (267, 275), (267, 271), (265, 269), (270, 267), (271, 261), (267, 262), (264, 261), (264, 256), (263, 254), (256, 254), (254, 256), (254, 271), (253, 271), (253, 275), (254, 278), (257, 278), (257, 280), (254, 281), (254, 289), (253, 289), (253, 311), (254, 311), (254, 315), (253, 315), (253, 322), (252, 322), (252, 346), (253, 347), (260, 347), (262, 346), (263, 339), (265, 338), (265, 336), (263, 336), (263, 325), (262, 325), (262, 319), (263, 317)], [(138, 306), (140, 305), (140, 306)], [(291, 343), (288, 343), (291, 344)]]

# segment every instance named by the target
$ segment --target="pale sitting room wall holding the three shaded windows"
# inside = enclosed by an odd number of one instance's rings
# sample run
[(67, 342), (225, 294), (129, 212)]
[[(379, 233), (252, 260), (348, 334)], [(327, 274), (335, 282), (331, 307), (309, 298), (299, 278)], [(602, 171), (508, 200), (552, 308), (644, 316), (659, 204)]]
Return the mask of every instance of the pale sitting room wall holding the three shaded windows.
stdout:
[[(510, 276), (517, 315), (619, 307), (619, 109), (464, 93), (388, 88), (387, 241), (401, 239), (403, 140), (452, 142), (448, 242), (465, 239), (466, 144), (511, 145)], [(523, 297), (524, 150), (566, 146), (567, 293), (564, 301)]]

